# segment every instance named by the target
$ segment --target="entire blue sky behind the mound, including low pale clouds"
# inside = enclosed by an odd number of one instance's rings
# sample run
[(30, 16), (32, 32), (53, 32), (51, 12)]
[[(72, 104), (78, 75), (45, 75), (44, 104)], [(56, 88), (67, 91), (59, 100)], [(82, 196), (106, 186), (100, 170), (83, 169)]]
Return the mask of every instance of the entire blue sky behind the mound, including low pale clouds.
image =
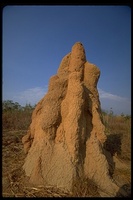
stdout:
[(6, 6), (3, 9), (3, 100), (36, 104), (62, 58), (80, 41), (99, 67), (102, 109), (131, 114), (131, 8)]

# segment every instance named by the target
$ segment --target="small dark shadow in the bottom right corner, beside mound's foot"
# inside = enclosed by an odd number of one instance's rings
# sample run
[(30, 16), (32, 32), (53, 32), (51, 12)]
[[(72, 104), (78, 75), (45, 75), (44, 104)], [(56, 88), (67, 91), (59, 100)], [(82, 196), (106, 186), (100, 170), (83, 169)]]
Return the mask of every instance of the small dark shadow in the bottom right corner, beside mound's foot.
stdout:
[(131, 197), (131, 185), (124, 184), (122, 187), (120, 187), (116, 197)]

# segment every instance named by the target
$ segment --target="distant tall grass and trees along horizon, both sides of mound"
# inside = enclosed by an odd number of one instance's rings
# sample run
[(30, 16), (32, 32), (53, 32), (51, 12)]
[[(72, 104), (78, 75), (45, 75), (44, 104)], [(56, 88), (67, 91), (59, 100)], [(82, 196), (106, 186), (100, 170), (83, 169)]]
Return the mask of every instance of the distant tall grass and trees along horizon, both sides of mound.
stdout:
[[(6, 100), (2, 103), (2, 128), (4, 130), (26, 130), (31, 123), (31, 116), (36, 105), (26, 104), (21, 106), (18, 102)], [(102, 111), (103, 123), (106, 133), (130, 133), (131, 116), (114, 115), (112, 108), (110, 111)]]

